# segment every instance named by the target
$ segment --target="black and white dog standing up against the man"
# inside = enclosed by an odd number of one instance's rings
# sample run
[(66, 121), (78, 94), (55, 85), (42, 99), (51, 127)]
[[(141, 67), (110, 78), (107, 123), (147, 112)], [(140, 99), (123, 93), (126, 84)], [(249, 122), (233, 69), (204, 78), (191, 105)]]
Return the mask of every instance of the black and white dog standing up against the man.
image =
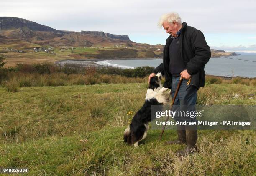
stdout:
[(166, 105), (169, 102), (170, 92), (161, 85), (162, 74), (158, 73), (150, 79), (148, 91), (143, 106), (134, 115), (131, 124), (124, 131), (124, 141), (138, 146), (138, 142), (145, 139), (148, 123), (151, 121), (151, 105)]

